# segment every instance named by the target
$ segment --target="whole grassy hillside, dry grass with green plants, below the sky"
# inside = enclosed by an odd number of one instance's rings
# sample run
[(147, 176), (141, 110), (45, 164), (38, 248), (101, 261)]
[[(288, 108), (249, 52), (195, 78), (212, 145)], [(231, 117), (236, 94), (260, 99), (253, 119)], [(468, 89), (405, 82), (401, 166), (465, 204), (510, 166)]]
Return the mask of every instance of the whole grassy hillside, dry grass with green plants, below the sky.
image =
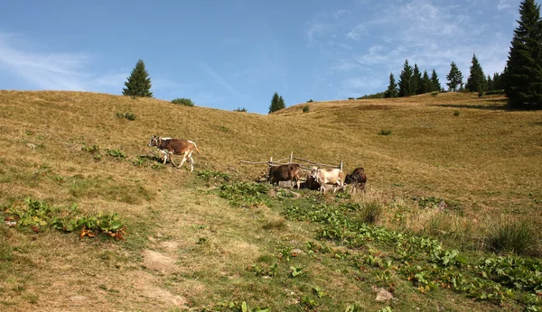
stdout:
[[(146, 146), (152, 134), (196, 142), (194, 172), (161, 165)], [(343, 161), (345, 170), (364, 167), (367, 192), (269, 193), (249, 182), (266, 166), (239, 162), (291, 151)], [(425, 270), (436, 275), (424, 281), (413, 265), (442, 264), (439, 252), (455, 249), (472, 263), (490, 257), (491, 237), (506, 225), (529, 234), (526, 256), (539, 255), (541, 155), (542, 112), (509, 111), (500, 96), (315, 102), (254, 115), (104, 94), (0, 91), (0, 216), (19, 222), (0, 224), (0, 309), (240, 310), (242, 301), (275, 311), (537, 307), (542, 289), (505, 294), (495, 290), (508, 287), (499, 282), (453, 291), (443, 271)], [(39, 206), (33, 200), (57, 221), (117, 216), (124, 240), (57, 231), (49, 215), (23, 226), (19, 216)], [(441, 200), (444, 212), (433, 208)], [(371, 206), (381, 210), (377, 220), (365, 217)], [(360, 221), (374, 221), (366, 229), (372, 236), (350, 237), (365, 231)], [(397, 234), (414, 237), (406, 253), (397, 250), (405, 239)], [(420, 237), (444, 244), (416, 243)], [(452, 262), (444, 265), (449, 274), (481, 274)], [(395, 298), (375, 302), (379, 288)]]

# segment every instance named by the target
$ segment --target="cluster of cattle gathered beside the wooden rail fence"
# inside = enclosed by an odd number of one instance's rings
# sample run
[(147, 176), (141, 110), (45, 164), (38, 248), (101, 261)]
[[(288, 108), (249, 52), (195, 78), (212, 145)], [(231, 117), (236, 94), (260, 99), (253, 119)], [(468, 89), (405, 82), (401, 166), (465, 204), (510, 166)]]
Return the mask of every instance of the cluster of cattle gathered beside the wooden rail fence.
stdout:
[[(269, 174), (267, 175), (267, 182), (271, 184), (278, 185), (280, 181), (291, 181), (292, 185), (290, 188), (297, 186), (297, 189), (300, 188), (301, 182), (299, 179), (299, 174), (301, 172), (301, 165), (297, 163), (288, 163), (284, 165), (274, 166), (272, 163), (269, 163)], [(305, 174), (305, 187), (310, 189), (320, 189), (325, 193), (325, 186), (332, 185), (333, 193), (337, 189), (344, 190), (348, 185), (352, 187), (352, 191), (364, 190), (365, 183), (367, 182), (367, 176), (365, 175), (365, 170), (363, 168), (356, 168), (344, 176), (342, 170), (338, 168), (332, 169), (319, 169), (316, 166), (313, 166), (309, 172)]]

